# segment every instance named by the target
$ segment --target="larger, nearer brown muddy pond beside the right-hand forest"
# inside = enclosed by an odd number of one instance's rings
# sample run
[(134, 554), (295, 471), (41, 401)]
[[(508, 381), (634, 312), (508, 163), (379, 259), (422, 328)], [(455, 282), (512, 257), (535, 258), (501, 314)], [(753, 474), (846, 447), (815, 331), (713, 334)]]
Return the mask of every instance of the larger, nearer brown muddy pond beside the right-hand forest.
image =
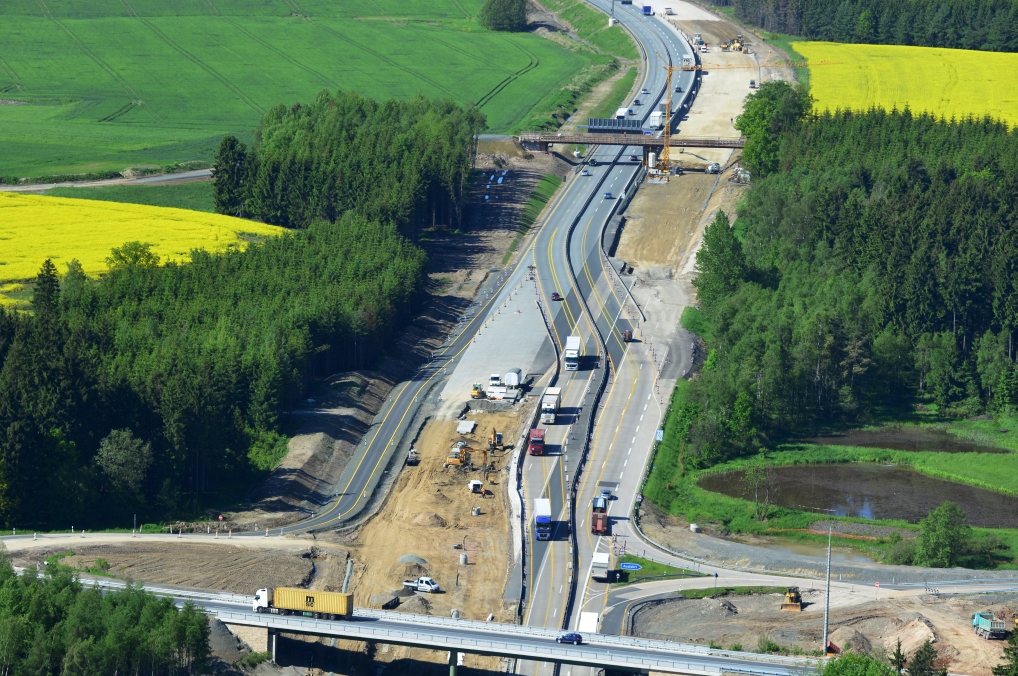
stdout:
[[(771, 503), (819, 514), (917, 522), (942, 502), (957, 503), (972, 525), (1018, 527), (1018, 499), (926, 476), (906, 465), (847, 462), (769, 467)], [(742, 470), (708, 474), (699, 486), (752, 499)], [(762, 496), (761, 496), (762, 497)]]

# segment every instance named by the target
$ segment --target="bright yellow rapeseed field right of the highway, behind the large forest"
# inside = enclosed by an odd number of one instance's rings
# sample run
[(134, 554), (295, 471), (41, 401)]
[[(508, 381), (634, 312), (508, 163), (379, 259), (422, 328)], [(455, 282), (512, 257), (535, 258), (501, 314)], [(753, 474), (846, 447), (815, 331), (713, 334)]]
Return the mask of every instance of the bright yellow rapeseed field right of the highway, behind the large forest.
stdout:
[(951, 119), (1018, 123), (1018, 54), (935, 47), (797, 42), (816, 109), (879, 106)]

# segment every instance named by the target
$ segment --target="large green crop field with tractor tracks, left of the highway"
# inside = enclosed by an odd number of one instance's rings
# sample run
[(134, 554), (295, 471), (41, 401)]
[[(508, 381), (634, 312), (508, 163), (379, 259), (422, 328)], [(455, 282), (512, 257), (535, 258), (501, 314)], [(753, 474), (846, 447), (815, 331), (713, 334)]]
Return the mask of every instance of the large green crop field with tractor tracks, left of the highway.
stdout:
[[(210, 160), (277, 103), (353, 90), (476, 103), (511, 128), (590, 55), (483, 29), (482, 0), (0, 3), (0, 175)], [(608, 36), (613, 43), (614, 37)], [(592, 53), (591, 53), (592, 54)]]

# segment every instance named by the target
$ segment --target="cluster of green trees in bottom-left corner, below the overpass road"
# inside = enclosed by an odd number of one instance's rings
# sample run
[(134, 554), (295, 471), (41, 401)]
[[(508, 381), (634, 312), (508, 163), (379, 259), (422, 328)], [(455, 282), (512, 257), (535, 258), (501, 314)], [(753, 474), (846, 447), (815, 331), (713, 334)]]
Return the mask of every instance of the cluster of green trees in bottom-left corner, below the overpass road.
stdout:
[[(56, 568), (56, 566), (51, 566)], [(0, 550), (0, 673), (206, 673), (209, 622), (136, 587), (100, 592), (69, 572), (17, 575)]]

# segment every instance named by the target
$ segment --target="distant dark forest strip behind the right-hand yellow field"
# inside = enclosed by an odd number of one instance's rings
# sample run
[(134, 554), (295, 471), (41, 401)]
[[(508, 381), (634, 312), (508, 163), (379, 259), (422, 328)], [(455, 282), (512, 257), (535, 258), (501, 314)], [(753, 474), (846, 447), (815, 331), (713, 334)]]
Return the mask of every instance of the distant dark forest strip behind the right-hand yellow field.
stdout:
[(809, 40), (1018, 51), (1015, 0), (732, 0), (739, 19)]

